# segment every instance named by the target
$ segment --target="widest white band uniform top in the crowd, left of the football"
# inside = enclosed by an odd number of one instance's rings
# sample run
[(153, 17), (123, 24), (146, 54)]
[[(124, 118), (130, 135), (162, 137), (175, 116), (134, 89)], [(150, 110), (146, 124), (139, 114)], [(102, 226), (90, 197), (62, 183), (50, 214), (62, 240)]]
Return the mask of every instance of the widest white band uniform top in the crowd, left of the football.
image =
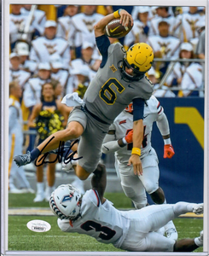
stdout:
[(68, 69), (71, 55), (67, 40), (63, 38), (54, 38), (49, 40), (45, 37), (32, 40), (30, 60), (37, 62), (49, 62), (50, 56), (55, 53), (61, 56), (63, 67)]

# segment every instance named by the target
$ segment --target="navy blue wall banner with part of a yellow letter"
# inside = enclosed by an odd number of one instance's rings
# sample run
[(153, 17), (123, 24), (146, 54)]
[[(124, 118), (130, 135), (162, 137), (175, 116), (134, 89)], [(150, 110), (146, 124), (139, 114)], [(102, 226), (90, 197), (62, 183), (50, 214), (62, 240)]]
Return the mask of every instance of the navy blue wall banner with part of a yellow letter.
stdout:
[[(152, 146), (159, 157), (160, 187), (167, 203), (203, 201), (204, 98), (158, 98), (170, 124), (175, 154), (163, 158), (164, 143), (156, 123)], [(150, 197), (148, 196), (148, 201)]]

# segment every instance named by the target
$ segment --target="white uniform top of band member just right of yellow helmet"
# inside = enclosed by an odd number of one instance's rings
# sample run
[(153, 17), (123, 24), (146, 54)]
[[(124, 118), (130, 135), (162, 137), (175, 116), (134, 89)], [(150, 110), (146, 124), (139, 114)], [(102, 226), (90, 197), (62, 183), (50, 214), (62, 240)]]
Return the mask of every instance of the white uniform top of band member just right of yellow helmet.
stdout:
[(149, 44), (154, 53), (160, 51), (162, 53), (162, 58), (178, 58), (179, 55), (179, 46), (180, 40), (178, 38), (174, 38), (172, 36), (168, 36), (166, 38), (160, 36), (151, 36), (148, 37), (147, 44)]

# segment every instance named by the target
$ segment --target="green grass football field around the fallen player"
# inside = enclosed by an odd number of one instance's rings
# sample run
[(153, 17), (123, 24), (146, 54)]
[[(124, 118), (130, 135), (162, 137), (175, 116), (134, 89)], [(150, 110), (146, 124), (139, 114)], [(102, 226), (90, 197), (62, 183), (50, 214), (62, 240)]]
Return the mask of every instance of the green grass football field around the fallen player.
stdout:
[[(117, 208), (131, 208), (131, 201), (122, 193), (107, 193), (105, 196), (113, 201)], [(41, 209), (48, 211), (49, 203), (33, 203), (33, 198), (32, 194), (9, 195), (9, 251), (123, 252), (113, 245), (99, 243), (90, 236), (61, 232), (56, 224), (57, 218), (52, 216), (51, 212), (48, 216), (35, 215), (41, 212)], [(32, 210), (32, 215), (26, 215), (28, 209)], [(15, 215), (14, 212), (17, 210), (19, 213)], [(32, 219), (47, 221), (51, 229), (44, 233), (28, 230), (26, 224)], [(200, 230), (203, 229), (203, 218), (177, 218), (174, 224), (178, 231), (178, 239), (194, 238), (199, 236)], [(202, 252), (202, 248), (195, 252)]]

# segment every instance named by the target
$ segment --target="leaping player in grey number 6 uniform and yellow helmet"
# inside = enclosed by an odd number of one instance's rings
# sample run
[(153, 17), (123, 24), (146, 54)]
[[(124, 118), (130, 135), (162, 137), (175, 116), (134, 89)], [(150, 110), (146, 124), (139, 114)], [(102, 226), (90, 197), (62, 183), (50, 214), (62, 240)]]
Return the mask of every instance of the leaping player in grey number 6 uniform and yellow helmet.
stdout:
[(108, 22), (120, 17), (123, 26), (127, 26), (132, 17), (124, 9), (107, 15), (95, 26), (96, 44), (102, 54), (102, 63), (84, 96), (84, 106), (73, 109), (69, 115), (67, 128), (48, 137), (38, 148), (27, 154), (15, 156), (18, 166), (23, 166), (58, 148), (60, 141), (67, 141), (81, 136), (78, 145), (78, 166), (76, 175), (84, 180), (101, 159), (102, 141), (113, 119), (133, 102), (133, 149), (129, 163), (138, 175), (142, 174), (139, 158), (143, 135), (144, 101), (152, 95), (153, 84), (145, 76), (152, 67), (153, 49), (148, 44), (134, 44), (125, 52), (119, 43), (111, 44), (104, 35)]

